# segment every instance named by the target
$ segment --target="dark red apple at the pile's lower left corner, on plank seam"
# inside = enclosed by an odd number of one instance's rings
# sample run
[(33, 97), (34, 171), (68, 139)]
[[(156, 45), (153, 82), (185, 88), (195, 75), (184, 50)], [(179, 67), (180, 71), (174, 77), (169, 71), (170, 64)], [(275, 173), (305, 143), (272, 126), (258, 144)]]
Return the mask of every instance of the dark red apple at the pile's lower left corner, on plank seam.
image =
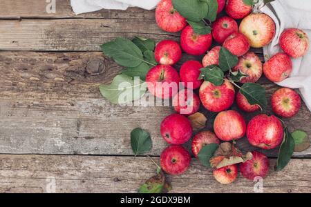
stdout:
[(171, 175), (180, 175), (189, 168), (191, 162), (190, 153), (178, 145), (168, 146), (160, 156), (162, 170)]

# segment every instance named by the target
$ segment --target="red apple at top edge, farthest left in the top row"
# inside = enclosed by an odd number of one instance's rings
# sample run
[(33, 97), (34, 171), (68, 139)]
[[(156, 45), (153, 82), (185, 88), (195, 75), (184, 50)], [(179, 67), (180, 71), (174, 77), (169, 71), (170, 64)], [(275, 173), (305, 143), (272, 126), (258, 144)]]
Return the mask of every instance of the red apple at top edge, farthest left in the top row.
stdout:
[(156, 8), (156, 22), (158, 27), (167, 32), (179, 32), (187, 21), (174, 8), (171, 0), (162, 0)]

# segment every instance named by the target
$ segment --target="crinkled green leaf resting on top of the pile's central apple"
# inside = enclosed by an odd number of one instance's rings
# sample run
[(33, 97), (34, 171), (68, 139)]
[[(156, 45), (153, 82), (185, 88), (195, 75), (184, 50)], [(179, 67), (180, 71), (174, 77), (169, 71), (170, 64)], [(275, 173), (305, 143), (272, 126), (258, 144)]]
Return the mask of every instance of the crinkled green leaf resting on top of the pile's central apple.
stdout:
[(218, 66), (207, 66), (206, 68), (201, 68), (200, 79), (204, 78), (205, 81), (213, 83), (215, 86), (221, 86), (225, 81), (223, 79), (223, 70), (218, 68)]

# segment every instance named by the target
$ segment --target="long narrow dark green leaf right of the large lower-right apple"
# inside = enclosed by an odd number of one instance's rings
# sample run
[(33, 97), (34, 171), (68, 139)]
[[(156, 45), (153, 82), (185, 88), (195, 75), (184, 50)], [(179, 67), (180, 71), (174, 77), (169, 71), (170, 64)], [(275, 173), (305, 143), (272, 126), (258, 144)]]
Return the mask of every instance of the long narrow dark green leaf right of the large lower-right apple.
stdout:
[(288, 128), (285, 128), (284, 130), (284, 139), (279, 150), (279, 157), (276, 161), (276, 166), (274, 166), (275, 171), (279, 171), (285, 168), (285, 166), (288, 165), (288, 162), (290, 162), (290, 158), (292, 157), (292, 153), (294, 152), (295, 141), (292, 138), (290, 132), (288, 131)]

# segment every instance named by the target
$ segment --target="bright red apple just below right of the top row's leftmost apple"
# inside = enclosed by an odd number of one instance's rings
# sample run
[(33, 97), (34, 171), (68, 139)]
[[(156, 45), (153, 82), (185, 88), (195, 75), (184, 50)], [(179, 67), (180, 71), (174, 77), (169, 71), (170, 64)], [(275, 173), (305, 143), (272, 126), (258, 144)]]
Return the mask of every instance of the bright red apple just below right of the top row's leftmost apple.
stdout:
[(180, 45), (189, 55), (203, 55), (211, 47), (211, 34), (196, 34), (191, 26), (182, 30)]

